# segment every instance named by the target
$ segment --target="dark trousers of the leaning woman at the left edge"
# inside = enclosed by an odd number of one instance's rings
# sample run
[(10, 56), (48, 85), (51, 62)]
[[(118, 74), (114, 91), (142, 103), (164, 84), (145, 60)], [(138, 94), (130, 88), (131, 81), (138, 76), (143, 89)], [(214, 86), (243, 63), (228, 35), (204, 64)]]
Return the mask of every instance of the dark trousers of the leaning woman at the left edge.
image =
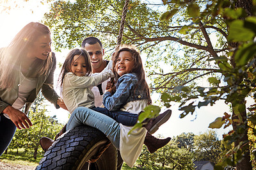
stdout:
[(3, 114), (0, 115), (0, 156), (4, 153), (6, 148), (12, 141), (13, 135), (15, 134), (16, 126), (6, 118)]

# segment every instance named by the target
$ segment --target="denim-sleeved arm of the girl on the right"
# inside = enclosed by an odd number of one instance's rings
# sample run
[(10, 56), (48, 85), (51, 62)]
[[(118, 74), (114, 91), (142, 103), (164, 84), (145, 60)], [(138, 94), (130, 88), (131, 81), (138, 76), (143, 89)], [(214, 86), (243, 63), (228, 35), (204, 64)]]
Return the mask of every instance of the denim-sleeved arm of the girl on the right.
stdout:
[(127, 104), (127, 100), (131, 94), (131, 90), (134, 87), (134, 82), (129, 76), (122, 76), (118, 79), (119, 85), (116, 88), (114, 95), (111, 95), (109, 90), (103, 95), (103, 105), (109, 111), (120, 110), (122, 105)]

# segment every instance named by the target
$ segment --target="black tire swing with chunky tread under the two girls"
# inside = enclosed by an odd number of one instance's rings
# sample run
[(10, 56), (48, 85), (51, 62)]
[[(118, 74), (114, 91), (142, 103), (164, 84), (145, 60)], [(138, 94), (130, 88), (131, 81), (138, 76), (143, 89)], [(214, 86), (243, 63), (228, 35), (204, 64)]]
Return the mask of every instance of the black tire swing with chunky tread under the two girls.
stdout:
[(96, 128), (76, 127), (54, 141), (36, 169), (116, 169), (117, 154), (112, 144), (97, 162), (87, 162), (107, 143), (109, 139)]

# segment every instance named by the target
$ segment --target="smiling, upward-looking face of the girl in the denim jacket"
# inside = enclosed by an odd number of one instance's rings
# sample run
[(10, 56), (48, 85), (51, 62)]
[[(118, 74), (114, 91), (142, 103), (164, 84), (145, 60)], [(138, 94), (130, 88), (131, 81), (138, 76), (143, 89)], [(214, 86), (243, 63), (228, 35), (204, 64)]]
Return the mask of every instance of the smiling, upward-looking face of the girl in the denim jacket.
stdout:
[(134, 67), (134, 59), (132, 58), (131, 52), (122, 51), (120, 52), (118, 59), (116, 60), (115, 70), (119, 76), (125, 73), (131, 73)]

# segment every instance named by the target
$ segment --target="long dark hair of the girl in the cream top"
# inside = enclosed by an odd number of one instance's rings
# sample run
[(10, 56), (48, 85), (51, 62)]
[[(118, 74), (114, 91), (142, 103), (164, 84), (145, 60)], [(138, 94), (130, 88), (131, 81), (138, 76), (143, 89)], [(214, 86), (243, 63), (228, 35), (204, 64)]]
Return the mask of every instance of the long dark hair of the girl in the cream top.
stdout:
[[(60, 76), (58, 79), (58, 84), (60, 85), (61, 92), (62, 92), (62, 88), (63, 88), (64, 77), (68, 72), (72, 72), (71, 66), (76, 61), (76, 60), (73, 61), (74, 56), (76, 56), (76, 55), (79, 55), (79, 58), (83, 57), (85, 59), (86, 76), (88, 76), (88, 75), (90, 75), (90, 73), (92, 73), (91, 60), (90, 60), (90, 56), (89, 56), (88, 52), (84, 49), (70, 50), (70, 52), (68, 52), (68, 54), (67, 54), (67, 58), (65, 59), (65, 62), (63, 63), (63, 66), (62, 66), (61, 72), (60, 72)], [(77, 58), (77, 59), (79, 59), (79, 58)]]

